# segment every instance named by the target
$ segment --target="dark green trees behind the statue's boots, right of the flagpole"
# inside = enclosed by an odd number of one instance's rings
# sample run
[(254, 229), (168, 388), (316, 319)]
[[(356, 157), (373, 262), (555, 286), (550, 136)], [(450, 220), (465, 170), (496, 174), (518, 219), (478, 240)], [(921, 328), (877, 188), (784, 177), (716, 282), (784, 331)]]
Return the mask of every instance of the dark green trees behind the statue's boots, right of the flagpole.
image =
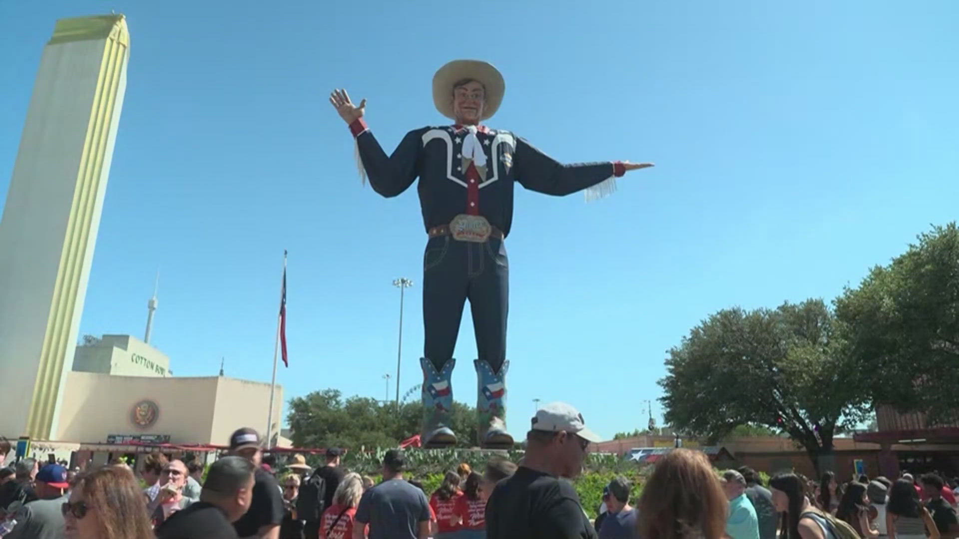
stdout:
[[(368, 397), (343, 400), (339, 389), (322, 389), (290, 401), (287, 419), (297, 447), (394, 447), (419, 433), (423, 405), (404, 402), (399, 410)], [(477, 439), (476, 409), (453, 404), (453, 429), (459, 447), (471, 447)]]

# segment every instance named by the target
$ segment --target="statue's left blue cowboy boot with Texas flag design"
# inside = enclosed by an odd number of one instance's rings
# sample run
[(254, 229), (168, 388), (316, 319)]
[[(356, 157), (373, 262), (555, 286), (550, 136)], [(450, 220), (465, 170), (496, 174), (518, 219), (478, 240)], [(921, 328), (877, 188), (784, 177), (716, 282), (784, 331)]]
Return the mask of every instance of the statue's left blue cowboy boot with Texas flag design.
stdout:
[(453, 447), (456, 434), (450, 428), (453, 425), (451, 378), (456, 360), (443, 363), (443, 369), (438, 372), (427, 358), (420, 358), (420, 365), (423, 367), (423, 447)]

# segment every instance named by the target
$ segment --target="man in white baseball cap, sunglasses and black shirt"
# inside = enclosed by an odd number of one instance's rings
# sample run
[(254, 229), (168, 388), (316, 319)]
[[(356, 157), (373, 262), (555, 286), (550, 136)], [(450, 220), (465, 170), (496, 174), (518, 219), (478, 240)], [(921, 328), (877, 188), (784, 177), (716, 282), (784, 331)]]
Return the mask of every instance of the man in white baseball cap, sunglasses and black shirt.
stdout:
[(578, 476), (590, 442), (598, 441), (572, 406), (538, 410), (526, 434), (526, 457), (486, 504), (487, 539), (596, 539), (573, 485), (560, 478)]

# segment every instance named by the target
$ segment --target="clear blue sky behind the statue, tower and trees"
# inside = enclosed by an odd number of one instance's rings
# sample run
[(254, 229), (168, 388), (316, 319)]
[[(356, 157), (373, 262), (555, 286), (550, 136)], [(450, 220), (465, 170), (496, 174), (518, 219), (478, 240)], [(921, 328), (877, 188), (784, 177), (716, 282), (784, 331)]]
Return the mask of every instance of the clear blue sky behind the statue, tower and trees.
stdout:
[[(228, 375), (269, 382), (287, 248), (287, 398), (383, 397), (398, 276), (416, 284), (403, 390), (421, 380), (415, 190), (361, 186), (326, 97), (367, 98), (392, 149), (444, 122), (430, 81), (450, 59), (503, 71), (491, 127), (562, 161), (657, 164), (589, 204), (517, 186), (514, 434), (534, 398), (572, 403), (605, 436), (642, 427), (667, 349), (699, 320), (831, 298), (956, 217), (950, 0), (0, 2), (0, 196), (55, 20), (111, 9), (129, 20), (129, 85), (81, 332), (142, 335), (159, 269), (154, 343), (177, 375), (215, 375), (225, 356)], [(475, 355), (467, 309), (459, 400), (475, 399)]]

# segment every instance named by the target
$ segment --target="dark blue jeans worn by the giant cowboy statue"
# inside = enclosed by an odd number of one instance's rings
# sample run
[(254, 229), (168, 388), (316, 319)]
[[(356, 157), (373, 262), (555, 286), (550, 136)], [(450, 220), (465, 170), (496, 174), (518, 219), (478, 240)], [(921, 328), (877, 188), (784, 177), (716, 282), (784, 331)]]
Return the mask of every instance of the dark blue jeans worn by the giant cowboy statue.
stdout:
[(463, 305), (470, 300), (479, 360), (499, 371), (506, 360), (509, 261), (503, 240), (431, 238), (423, 254), (424, 357), (436, 369), (453, 358)]

